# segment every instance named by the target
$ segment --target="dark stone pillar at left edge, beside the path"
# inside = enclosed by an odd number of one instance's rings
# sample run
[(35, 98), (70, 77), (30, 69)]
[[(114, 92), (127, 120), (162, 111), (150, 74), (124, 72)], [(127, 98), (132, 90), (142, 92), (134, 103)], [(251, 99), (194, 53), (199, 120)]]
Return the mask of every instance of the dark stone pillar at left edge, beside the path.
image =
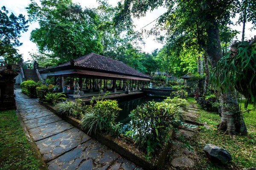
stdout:
[(14, 83), (16, 71), (6, 67), (0, 68), (0, 111), (16, 110)]

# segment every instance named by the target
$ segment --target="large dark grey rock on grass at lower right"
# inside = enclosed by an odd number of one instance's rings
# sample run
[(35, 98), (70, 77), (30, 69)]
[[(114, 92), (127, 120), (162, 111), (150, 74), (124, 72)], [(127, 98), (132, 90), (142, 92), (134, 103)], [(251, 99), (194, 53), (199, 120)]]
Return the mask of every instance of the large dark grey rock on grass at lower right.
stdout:
[(227, 152), (227, 150), (212, 144), (206, 144), (204, 147), (204, 152), (209, 159), (212, 159), (212, 161), (221, 161), (226, 163), (232, 160), (232, 157), (230, 153)]

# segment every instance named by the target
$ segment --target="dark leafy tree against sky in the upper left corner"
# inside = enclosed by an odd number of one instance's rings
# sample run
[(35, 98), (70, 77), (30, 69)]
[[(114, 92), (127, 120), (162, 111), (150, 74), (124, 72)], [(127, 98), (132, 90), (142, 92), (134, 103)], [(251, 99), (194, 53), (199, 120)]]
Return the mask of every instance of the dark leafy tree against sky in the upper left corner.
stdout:
[(17, 17), (13, 13), (8, 14), (9, 11), (3, 6), (0, 10), (0, 57), (12, 64), (21, 59), (16, 47), (22, 45), (18, 40), (20, 33), (26, 32), (29, 26), (22, 14)]

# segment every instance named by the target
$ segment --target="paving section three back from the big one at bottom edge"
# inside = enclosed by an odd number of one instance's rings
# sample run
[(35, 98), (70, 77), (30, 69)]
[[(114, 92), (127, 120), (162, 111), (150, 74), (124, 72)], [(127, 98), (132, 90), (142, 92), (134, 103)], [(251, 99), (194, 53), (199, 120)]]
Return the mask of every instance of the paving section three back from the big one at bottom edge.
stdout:
[(29, 130), (35, 127), (40, 127), (60, 120), (62, 119), (59, 116), (52, 113), (52, 115), (40, 117), (38, 119), (26, 120), (24, 121), (24, 123), (27, 129)]

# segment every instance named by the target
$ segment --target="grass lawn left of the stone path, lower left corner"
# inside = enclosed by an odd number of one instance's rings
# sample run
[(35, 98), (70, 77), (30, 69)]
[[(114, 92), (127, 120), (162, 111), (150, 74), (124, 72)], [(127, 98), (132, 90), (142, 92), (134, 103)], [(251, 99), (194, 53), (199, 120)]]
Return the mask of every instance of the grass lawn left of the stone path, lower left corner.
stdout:
[(39, 163), (30, 150), (14, 110), (0, 111), (0, 170), (37, 170)]

